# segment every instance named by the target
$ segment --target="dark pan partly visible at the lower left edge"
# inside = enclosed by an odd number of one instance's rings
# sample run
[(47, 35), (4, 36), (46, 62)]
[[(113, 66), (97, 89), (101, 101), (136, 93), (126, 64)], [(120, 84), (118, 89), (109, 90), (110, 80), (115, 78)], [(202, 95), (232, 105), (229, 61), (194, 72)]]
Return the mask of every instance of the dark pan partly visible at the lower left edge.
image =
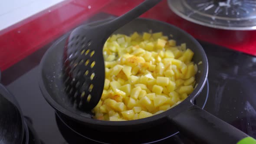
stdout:
[(14, 96), (0, 84), (0, 144), (21, 144), (25, 125)]

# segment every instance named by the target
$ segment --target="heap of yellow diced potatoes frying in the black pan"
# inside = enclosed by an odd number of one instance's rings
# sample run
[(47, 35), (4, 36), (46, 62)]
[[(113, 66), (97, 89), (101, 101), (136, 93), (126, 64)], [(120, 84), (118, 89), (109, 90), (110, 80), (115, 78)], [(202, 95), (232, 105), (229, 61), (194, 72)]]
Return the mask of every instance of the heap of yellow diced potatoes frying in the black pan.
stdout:
[[(85, 50), (81, 54), (91, 55)], [(135, 120), (178, 105), (196, 85), (198, 68), (191, 61), (193, 56), (186, 43), (177, 46), (162, 32), (113, 34), (103, 47), (105, 82), (101, 100), (92, 111), (95, 118)]]

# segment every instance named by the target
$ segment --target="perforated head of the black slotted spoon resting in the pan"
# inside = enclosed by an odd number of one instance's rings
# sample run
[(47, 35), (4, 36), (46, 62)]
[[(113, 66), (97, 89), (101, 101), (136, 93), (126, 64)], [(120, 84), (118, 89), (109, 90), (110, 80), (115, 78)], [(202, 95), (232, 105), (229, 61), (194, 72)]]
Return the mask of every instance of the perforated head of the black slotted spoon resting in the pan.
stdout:
[(65, 91), (83, 110), (98, 104), (104, 88), (106, 40), (98, 33), (99, 29), (80, 26), (70, 33), (64, 50)]

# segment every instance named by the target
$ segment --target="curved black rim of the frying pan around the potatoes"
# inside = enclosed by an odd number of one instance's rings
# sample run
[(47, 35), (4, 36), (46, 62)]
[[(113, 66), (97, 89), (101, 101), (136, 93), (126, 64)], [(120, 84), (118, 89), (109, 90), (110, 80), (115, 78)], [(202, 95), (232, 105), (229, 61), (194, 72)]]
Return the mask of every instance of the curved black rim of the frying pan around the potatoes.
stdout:
[[(58, 102), (56, 102), (49, 94), (49, 92), (46, 90), (46, 87), (44, 85), (43, 82), (43, 78), (42, 78), (42, 72), (43, 72), (43, 63), (45, 62), (45, 59), (47, 58), (48, 53), (50, 52), (51, 49), (54, 48), (54, 46), (56, 46), (56, 44), (58, 44), (62, 39), (65, 38), (65, 36), (67, 34), (65, 34), (64, 36), (62, 36), (61, 38), (59, 38), (55, 43), (52, 44), (52, 46), (49, 47), (49, 49), (47, 49), (47, 51), (45, 52), (43, 58), (41, 59), (41, 62), (39, 64), (39, 88), (43, 94), (43, 97), (46, 99), (46, 101), (49, 103), (49, 105), (51, 105), (54, 109), (56, 109), (57, 111), (61, 112), (62, 114), (68, 116), (69, 118), (73, 118), (74, 120), (80, 122), (80, 123), (87, 123), (87, 124), (97, 124), (97, 125), (108, 125), (108, 126), (130, 126), (130, 125), (139, 125), (139, 124), (145, 124), (148, 122), (153, 122), (153, 121), (157, 121), (161, 118), (166, 118), (169, 117), (169, 114), (173, 113), (175, 114), (175, 111), (177, 111), (177, 109), (184, 109), (184, 108), (189, 108), (192, 104), (192, 101), (194, 101), (194, 98), (197, 97), (197, 95), (199, 95), (199, 93), (202, 91), (203, 86), (205, 85), (206, 81), (207, 81), (207, 75), (208, 75), (208, 60), (207, 60), (207, 56), (203, 50), (203, 47), (200, 45), (200, 43), (193, 37), (191, 36), (189, 33), (185, 32), (183, 29), (174, 26), (172, 24), (163, 22), (163, 21), (159, 21), (159, 20), (153, 20), (153, 19), (148, 19), (148, 18), (137, 18), (135, 20), (144, 20), (147, 22), (154, 22), (154, 23), (159, 23), (161, 25), (167, 25), (168, 27), (170, 27), (170, 29), (177, 29), (180, 33), (184, 33), (185, 35), (187, 35), (187, 37), (191, 40), (193, 40), (194, 44), (197, 46), (197, 49), (200, 50), (200, 53), (202, 55), (202, 66), (203, 66), (203, 72), (201, 72), (202, 76), (198, 82), (197, 87), (194, 89), (194, 91), (189, 95), (189, 97), (187, 97), (184, 101), (182, 101), (179, 105), (175, 106), (174, 108), (171, 108), (167, 111), (164, 111), (158, 115), (153, 115), (151, 117), (148, 118), (141, 118), (141, 119), (137, 119), (137, 120), (130, 120), (130, 121), (102, 121), (102, 120), (97, 120), (97, 119), (93, 119), (93, 118), (86, 118), (82, 115), (77, 115), (72, 111), (69, 111), (66, 108), (63, 108), (61, 105), (59, 105)], [(187, 105), (189, 104), (189, 105)], [(177, 113), (177, 112), (176, 112)], [(175, 114), (176, 115), (176, 114)]]

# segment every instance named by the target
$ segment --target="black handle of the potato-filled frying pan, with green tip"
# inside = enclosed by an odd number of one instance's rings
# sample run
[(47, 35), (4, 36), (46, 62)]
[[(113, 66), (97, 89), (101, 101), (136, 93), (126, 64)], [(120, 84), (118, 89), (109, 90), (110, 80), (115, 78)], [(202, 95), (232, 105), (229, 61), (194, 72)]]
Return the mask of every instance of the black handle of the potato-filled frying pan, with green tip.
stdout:
[(192, 105), (171, 122), (187, 137), (201, 144), (256, 144), (256, 140), (232, 125)]

